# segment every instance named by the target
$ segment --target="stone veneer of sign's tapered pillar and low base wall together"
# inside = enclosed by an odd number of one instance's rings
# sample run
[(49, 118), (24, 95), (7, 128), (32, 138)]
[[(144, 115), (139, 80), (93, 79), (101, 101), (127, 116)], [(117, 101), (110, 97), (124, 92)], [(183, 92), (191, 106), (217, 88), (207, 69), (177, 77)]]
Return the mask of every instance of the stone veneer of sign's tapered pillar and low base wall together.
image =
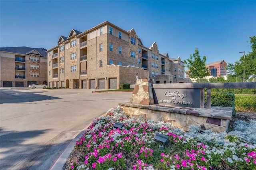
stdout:
[(146, 120), (170, 122), (172, 126), (188, 130), (190, 125), (226, 132), (232, 118), (232, 107), (212, 107), (200, 109), (155, 105), (150, 79), (137, 79), (130, 103), (120, 103), (121, 111), (130, 117), (139, 116)]

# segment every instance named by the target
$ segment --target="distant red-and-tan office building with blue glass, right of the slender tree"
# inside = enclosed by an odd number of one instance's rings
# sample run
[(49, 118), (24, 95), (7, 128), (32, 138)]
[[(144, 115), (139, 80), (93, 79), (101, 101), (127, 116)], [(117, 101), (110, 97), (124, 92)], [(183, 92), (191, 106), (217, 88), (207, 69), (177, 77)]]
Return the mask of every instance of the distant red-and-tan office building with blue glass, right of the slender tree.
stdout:
[[(225, 77), (227, 75), (227, 71), (226, 71), (227, 62), (224, 59), (215, 61), (212, 63), (208, 63), (206, 64), (206, 67), (210, 70), (210, 76), (212, 77), (218, 77), (220, 75)], [(188, 74), (186, 74), (186, 78), (190, 78)], [(210, 78), (206, 77), (206, 79), (210, 79)], [(196, 79), (191, 79), (191, 80), (192, 82), (194, 82)]]

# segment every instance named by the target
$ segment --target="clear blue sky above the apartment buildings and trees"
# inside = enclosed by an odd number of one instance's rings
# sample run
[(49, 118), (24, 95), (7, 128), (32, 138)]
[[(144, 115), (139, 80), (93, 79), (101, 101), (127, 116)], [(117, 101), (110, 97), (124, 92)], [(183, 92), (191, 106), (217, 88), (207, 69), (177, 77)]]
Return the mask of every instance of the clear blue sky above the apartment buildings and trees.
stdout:
[(71, 29), (84, 32), (104, 21), (135, 29), (144, 46), (188, 59), (198, 47), (206, 63), (233, 62), (251, 51), (256, 1), (0, 0), (0, 47), (57, 45)]

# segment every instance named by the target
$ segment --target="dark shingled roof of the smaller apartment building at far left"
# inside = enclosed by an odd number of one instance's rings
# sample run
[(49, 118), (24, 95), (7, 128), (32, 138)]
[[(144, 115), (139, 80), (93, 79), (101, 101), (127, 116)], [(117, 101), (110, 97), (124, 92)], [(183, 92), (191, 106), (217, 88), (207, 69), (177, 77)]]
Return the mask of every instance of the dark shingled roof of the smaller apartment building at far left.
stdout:
[(30, 47), (0, 47), (0, 51), (9, 53), (18, 53), (23, 55), (39, 55), (41, 57), (47, 57), (47, 49), (44, 48), (30, 48)]

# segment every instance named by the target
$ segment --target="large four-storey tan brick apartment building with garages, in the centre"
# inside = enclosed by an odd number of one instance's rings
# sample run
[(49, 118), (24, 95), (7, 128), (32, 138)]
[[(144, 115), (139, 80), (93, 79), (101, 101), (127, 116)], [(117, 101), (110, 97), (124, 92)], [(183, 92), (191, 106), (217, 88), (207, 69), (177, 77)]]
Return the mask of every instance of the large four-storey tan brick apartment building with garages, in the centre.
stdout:
[(72, 29), (46, 52), (49, 87), (119, 89), (122, 83), (134, 84), (137, 74), (171, 74), (174, 62), (159, 53), (156, 42), (145, 47), (133, 28), (125, 31), (108, 21), (84, 32)]

